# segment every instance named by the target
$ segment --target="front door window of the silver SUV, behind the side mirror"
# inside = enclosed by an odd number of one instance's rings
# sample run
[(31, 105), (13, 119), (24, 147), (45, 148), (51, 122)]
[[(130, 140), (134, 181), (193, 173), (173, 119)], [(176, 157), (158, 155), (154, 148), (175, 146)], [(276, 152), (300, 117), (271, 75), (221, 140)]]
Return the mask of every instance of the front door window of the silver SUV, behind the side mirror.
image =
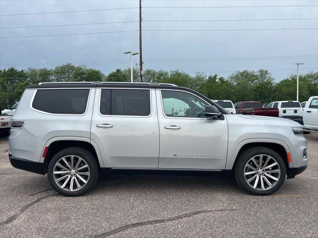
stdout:
[(208, 104), (198, 97), (180, 91), (161, 90), (163, 112), (167, 117), (203, 118)]

